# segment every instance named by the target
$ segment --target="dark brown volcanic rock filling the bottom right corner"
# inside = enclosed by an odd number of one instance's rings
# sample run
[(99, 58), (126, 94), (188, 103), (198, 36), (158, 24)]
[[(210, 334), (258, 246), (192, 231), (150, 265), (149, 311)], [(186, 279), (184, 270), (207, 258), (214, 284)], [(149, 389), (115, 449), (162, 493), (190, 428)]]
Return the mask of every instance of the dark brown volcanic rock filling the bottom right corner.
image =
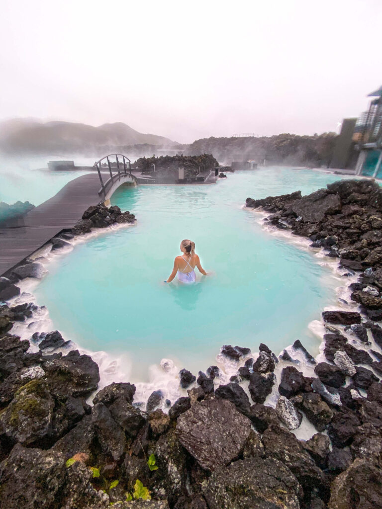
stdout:
[(382, 500), (381, 469), (368, 459), (357, 458), (333, 483), (329, 509), (376, 509)]

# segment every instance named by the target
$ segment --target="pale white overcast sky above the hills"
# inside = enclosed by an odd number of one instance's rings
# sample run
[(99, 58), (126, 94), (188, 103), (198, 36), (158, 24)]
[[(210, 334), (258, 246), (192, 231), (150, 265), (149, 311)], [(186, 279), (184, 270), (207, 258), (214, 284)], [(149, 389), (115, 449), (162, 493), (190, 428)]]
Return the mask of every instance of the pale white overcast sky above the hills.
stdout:
[(314, 134), (382, 84), (380, 0), (1, 0), (0, 19), (0, 119)]

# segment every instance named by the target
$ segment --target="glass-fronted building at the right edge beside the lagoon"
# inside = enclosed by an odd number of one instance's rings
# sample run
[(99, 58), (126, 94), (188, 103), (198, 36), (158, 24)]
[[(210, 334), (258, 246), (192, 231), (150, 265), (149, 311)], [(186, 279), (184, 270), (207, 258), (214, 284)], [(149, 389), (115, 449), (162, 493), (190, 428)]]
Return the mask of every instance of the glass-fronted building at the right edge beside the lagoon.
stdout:
[(353, 140), (360, 150), (356, 175), (382, 179), (382, 86), (368, 97), (374, 99), (354, 128)]

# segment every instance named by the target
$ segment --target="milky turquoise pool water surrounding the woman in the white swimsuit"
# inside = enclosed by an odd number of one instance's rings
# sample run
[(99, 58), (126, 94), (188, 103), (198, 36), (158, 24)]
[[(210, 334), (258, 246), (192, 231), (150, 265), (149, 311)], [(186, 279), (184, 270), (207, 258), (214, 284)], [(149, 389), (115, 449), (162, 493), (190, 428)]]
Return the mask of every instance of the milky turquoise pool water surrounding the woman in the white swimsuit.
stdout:
[[(266, 168), (215, 185), (121, 187), (112, 203), (133, 212), (137, 225), (78, 244), (52, 263), (35, 291), (38, 302), (66, 338), (92, 351), (127, 353), (133, 379), (145, 379), (163, 357), (206, 369), (224, 344), (258, 351), (266, 343), (279, 353), (299, 338), (316, 353), (308, 324), (334, 301), (338, 281), (241, 206), (248, 196), (307, 194), (335, 180)], [(195, 286), (165, 285), (183, 238), (195, 241), (213, 274)]]

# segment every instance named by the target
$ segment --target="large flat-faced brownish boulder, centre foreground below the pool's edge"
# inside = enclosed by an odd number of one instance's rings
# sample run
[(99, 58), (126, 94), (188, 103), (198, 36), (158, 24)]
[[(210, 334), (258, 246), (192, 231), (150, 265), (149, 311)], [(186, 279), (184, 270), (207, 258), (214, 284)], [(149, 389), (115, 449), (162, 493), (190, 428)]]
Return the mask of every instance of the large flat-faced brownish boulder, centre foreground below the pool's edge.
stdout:
[(251, 422), (230, 401), (209, 400), (180, 415), (176, 429), (180, 443), (202, 468), (215, 470), (239, 455)]

